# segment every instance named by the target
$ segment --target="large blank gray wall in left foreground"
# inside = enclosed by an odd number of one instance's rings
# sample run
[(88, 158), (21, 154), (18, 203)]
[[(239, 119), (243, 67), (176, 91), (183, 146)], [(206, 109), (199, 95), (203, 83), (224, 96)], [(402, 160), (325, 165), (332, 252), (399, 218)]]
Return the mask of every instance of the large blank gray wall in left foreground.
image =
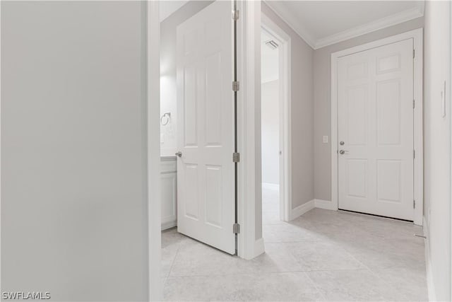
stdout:
[(143, 13), (1, 1), (1, 291), (147, 299)]

